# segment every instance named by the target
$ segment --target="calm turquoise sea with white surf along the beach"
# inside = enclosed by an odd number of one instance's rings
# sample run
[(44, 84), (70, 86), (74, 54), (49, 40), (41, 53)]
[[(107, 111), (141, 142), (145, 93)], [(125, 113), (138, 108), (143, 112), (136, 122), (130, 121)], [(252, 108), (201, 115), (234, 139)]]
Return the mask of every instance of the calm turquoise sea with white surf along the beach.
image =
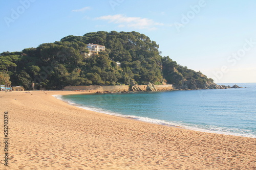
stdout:
[(190, 130), (256, 138), (256, 83), (243, 88), (55, 95), (70, 105)]

